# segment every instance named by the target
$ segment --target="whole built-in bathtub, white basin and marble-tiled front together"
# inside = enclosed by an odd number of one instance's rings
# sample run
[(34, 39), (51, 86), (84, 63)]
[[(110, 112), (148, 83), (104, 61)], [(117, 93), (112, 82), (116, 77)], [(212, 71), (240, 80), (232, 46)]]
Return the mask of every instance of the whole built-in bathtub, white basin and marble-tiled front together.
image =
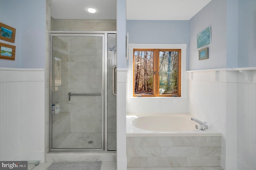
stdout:
[(193, 116), (127, 116), (127, 167), (220, 166), (221, 133), (210, 126), (196, 129), (197, 123), (190, 117)]

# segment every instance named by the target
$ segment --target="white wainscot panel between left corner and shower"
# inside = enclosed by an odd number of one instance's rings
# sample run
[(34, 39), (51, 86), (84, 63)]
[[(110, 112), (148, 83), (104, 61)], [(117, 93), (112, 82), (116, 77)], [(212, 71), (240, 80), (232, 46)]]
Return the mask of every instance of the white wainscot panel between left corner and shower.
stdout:
[(44, 162), (44, 69), (22, 69), (22, 159)]

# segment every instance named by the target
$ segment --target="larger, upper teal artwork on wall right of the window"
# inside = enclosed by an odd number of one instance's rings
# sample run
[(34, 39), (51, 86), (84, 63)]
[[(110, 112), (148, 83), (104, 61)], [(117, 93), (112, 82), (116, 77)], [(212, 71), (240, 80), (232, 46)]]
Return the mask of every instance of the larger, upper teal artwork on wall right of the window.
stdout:
[(211, 43), (211, 27), (204, 29), (196, 35), (197, 49)]

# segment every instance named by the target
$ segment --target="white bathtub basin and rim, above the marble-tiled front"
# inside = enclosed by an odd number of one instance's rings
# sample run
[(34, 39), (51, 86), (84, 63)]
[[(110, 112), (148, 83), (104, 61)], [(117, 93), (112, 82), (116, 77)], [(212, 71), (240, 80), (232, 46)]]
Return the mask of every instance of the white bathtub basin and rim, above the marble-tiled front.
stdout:
[(193, 116), (188, 113), (130, 115), (126, 117), (126, 136), (221, 136), (210, 126), (206, 130), (196, 129), (198, 123), (190, 117)]

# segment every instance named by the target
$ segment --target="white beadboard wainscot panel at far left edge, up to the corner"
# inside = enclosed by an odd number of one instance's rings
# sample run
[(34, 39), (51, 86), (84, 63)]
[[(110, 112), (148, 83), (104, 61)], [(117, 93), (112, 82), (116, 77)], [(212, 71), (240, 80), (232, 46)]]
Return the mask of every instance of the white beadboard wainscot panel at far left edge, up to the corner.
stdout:
[(18, 160), (21, 151), (20, 71), (0, 68), (0, 160)]

